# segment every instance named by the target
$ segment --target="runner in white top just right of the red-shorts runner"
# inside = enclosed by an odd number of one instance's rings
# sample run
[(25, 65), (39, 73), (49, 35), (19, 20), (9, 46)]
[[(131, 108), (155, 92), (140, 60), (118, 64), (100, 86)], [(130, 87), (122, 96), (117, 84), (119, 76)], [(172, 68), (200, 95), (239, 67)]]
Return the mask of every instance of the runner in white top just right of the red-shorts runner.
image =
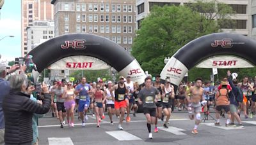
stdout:
[(126, 77), (126, 81), (124, 84), (126, 86), (126, 89), (128, 90), (128, 94), (127, 94), (127, 97), (125, 98), (125, 101), (126, 101), (126, 106), (127, 106), (126, 107), (126, 111), (127, 111), (126, 121), (129, 122), (129, 121), (131, 121), (130, 111), (131, 111), (132, 104), (134, 102), (134, 98), (133, 98), (134, 83), (133, 83), (133, 81), (131, 81), (131, 76)]

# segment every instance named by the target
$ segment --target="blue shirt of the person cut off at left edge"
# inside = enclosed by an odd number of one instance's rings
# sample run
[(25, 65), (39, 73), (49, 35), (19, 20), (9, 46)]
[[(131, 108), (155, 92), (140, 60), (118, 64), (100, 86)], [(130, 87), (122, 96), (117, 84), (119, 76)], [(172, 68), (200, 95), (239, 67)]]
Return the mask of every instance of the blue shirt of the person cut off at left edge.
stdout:
[(10, 92), (10, 83), (3, 78), (0, 78), (0, 129), (4, 128), (4, 112), (3, 99)]

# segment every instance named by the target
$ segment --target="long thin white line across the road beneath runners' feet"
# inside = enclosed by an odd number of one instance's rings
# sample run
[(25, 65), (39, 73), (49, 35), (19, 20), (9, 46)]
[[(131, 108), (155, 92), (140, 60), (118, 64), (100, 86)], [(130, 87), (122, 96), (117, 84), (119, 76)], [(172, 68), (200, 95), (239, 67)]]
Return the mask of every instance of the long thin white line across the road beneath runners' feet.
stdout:
[[(189, 120), (189, 119), (172, 119), (169, 121), (183, 121), (183, 120)], [(146, 120), (134, 120), (134, 121), (130, 121), (129, 123), (136, 123), (136, 122), (146, 122)], [(113, 123), (119, 123), (119, 121), (113, 121)], [(100, 124), (110, 124), (110, 122), (104, 121)], [(78, 125), (79, 127), (81, 126), (81, 123), (76, 123), (74, 124), (75, 127), (76, 125)], [(97, 125), (97, 123), (85, 123), (85, 125)], [(68, 125), (63, 125), (64, 127), (67, 127)], [(60, 124), (58, 125), (42, 125), (42, 126), (38, 126), (38, 128), (44, 128), (44, 127), (60, 127)]]

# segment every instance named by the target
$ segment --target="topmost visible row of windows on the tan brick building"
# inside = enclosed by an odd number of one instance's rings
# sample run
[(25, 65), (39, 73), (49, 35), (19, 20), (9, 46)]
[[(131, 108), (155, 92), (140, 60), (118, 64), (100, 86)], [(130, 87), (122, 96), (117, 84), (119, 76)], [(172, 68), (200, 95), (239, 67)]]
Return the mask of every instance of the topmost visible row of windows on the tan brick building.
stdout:
[[(68, 8), (68, 4), (66, 6), (65, 4), (65, 8)], [(111, 8), (110, 8), (111, 7)], [(123, 12), (132, 12), (132, 5), (121, 5), (121, 4), (88, 4), (88, 11), (117, 11), (117, 12), (121, 12), (121, 10), (123, 10)], [(77, 3), (76, 4), (76, 11), (86, 11), (86, 4), (85, 3)]]

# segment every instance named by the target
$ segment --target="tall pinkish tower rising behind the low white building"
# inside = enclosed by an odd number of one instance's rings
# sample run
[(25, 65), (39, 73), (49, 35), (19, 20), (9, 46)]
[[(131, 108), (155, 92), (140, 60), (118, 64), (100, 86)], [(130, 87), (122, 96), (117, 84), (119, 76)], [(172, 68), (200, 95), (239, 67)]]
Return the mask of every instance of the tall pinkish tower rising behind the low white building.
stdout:
[(21, 15), (21, 55), (24, 57), (29, 52), (27, 27), (33, 26), (35, 20), (54, 20), (54, 6), (51, 0), (22, 0)]

